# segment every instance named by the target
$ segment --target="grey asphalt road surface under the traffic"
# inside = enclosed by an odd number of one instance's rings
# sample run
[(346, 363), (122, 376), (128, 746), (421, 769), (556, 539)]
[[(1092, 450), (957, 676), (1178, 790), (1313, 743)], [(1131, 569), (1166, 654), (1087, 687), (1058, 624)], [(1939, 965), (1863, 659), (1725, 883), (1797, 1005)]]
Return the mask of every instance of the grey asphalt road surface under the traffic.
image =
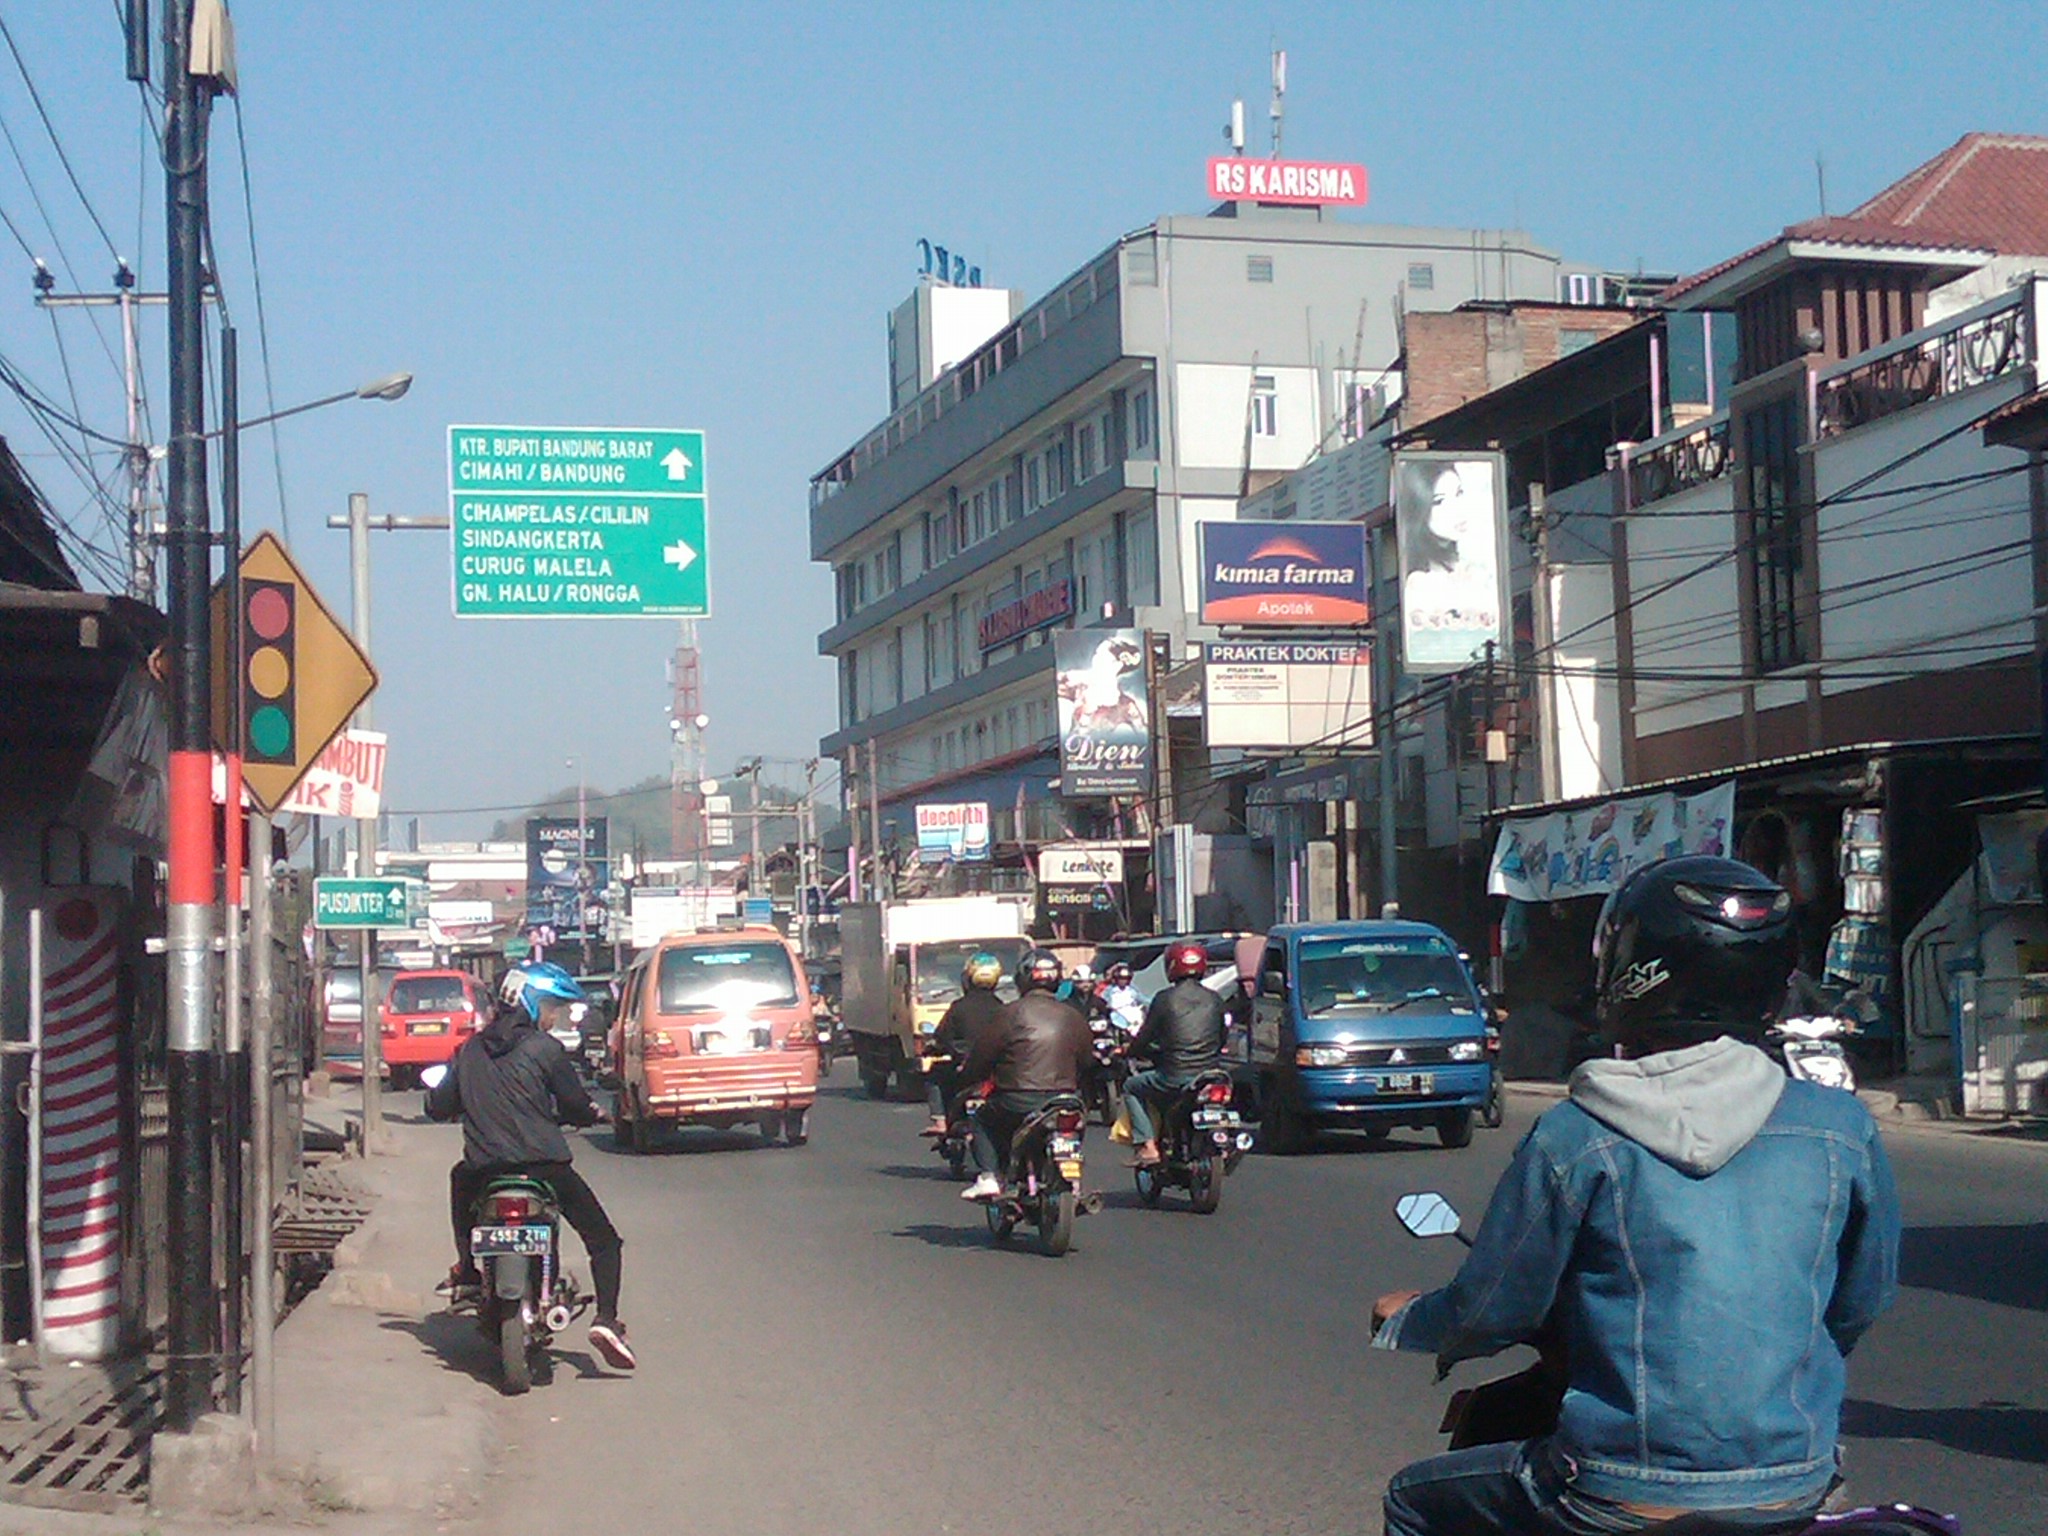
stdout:
[[(848, 1077), (803, 1149), (694, 1133), (639, 1159), (596, 1133), (578, 1151), (627, 1235), (641, 1370), (598, 1374), (569, 1339), (557, 1378), (504, 1405), (479, 1530), (1376, 1532), (1386, 1477), (1440, 1448), (1448, 1389), (1425, 1358), (1370, 1354), (1366, 1319), (1462, 1249), (1409, 1239), (1391, 1206), (1434, 1188), (1477, 1217), (1542, 1102), (1460, 1153), (1399, 1133), (1253, 1155), (1208, 1219), (1171, 1194), (1141, 1208), (1092, 1130), (1108, 1208), (1044, 1260), (993, 1249), (922, 1110)], [(1851, 1491), (2036, 1536), (2048, 1147), (1901, 1133), (1892, 1155), (1907, 1288), (1851, 1364)]]

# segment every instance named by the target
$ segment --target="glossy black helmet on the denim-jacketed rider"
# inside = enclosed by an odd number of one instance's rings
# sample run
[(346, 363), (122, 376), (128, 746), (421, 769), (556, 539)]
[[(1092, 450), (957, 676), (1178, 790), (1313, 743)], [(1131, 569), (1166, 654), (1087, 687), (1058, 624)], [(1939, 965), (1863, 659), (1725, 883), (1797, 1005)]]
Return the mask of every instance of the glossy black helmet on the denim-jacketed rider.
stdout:
[(1792, 897), (1733, 858), (1630, 874), (1593, 926), (1599, 1032), (1630, 1055), (1757, 1034), (1798, 958)]

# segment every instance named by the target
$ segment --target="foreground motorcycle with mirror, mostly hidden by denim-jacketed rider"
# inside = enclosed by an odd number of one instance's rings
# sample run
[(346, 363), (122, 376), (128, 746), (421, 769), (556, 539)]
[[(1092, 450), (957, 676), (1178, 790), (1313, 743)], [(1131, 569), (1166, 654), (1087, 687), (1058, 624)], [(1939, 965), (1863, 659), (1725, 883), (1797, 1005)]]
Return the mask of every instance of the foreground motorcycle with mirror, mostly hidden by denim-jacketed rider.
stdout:
[[(1411, 1237), (1456, 1237), (1466, 1247), (1473, 1245), (1456, 1208), (1442, 1194), (1403, 1194), (1395, 1202), (1395, 1217)], [(1444, 1409), (1444, 1421), (1438, 1425), (1440, 1434), (1450, 1436), (1450, 1450), (1536, 1440), (1556, 1430), (1569, 1384), (1563, 1341), (1546, 1331), (1544, 1337), (1530, 1339), (1530, 1343), (1536, 1346), (1538, 1360), (1528, 1370), (1452, 1395)], [(1440, 1366), (1440, 1374), (1442, 1370), (1448, 1368)], [(1716, 1520), (1714, 1511), (1702, 1509), (1655, 1530), (1671, 1530), (1673, 1536), (1675, 1532), (1739, 1536), (1743, 1530), (1753, 1532), (1755, 1526), (1731, 1526)], [(1855, 1536), (1962, 1536), (1962, 1522), (1956, 1516), (1888, 1503), (1817, 1516), (1812, 1524), (1800, 1528), (1798, 1536), (1837, 1536), (1839, 1532)]]

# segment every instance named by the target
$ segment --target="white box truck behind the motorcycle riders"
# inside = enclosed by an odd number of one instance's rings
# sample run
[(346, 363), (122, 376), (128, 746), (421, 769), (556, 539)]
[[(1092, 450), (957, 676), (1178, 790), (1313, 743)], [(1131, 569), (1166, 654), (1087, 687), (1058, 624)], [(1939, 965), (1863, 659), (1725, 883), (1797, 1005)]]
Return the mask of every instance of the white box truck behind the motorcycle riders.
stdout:
[[(961, 969), (987, 950), (1012, 975), (1030, 948), (1028, 897), (967, 895), (840, 907), (840, 1020), (868, 1098), (924, 1092), (924, 1042), (961, 995)], [(1010, 983), (1004, 983), (1010, 995)]]

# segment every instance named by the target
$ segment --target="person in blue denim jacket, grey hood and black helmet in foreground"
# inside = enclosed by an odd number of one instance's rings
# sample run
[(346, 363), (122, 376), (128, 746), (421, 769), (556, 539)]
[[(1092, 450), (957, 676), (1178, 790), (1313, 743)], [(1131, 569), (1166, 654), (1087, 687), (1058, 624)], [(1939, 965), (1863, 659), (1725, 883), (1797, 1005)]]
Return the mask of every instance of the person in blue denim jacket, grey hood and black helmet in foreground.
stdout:
[(1493, 1192), (1458, 1276), (1380, 1296), (1374, 1348), (1440, 1366), (1546, 1323), (1552, 1434), (1432, 1456), (1391, 1536), (1642, 1530), (1696, 1511), (1804, 1530), (1837, 1468), (1843, 1358), (1890, 1305), (1898, 1198), (1853, 1094), (1755, 1047), (1792, 899), (1726, 858), (1630, 874), (1595, 934), (1612, 1057), (1581, 1065)]

